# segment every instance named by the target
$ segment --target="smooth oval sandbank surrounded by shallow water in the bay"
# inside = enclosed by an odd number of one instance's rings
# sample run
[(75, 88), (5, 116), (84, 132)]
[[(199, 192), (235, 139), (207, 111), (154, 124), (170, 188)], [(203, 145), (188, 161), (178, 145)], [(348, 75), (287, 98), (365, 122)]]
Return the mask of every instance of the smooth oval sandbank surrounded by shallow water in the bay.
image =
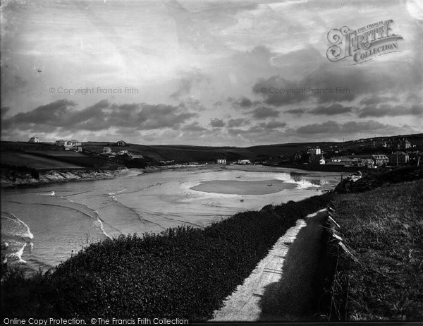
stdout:
[(286, 189), (295, 189), (296, 187), (297, 185), (295, 183), (288, 183), (277, 179), (261, 181), (212, 180), (203, 181), (191, 189), (206, 193), (266, 195), (268, 193), (278, 193)]

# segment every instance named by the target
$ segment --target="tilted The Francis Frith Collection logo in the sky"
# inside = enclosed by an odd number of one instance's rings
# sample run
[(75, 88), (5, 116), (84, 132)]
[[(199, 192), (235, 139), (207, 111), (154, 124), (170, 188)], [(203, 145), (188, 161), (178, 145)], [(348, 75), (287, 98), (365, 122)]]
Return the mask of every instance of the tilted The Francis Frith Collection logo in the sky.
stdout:
[(354, 64), (362, 64), (375, 56), (398, 51), (398, 41), (403, 37), (393, 33), (393, 20), (384, 20), (351, 30), (347, 26), (328, 32), (331, 44), (326, 52), (330, 61), (352, 57)]

